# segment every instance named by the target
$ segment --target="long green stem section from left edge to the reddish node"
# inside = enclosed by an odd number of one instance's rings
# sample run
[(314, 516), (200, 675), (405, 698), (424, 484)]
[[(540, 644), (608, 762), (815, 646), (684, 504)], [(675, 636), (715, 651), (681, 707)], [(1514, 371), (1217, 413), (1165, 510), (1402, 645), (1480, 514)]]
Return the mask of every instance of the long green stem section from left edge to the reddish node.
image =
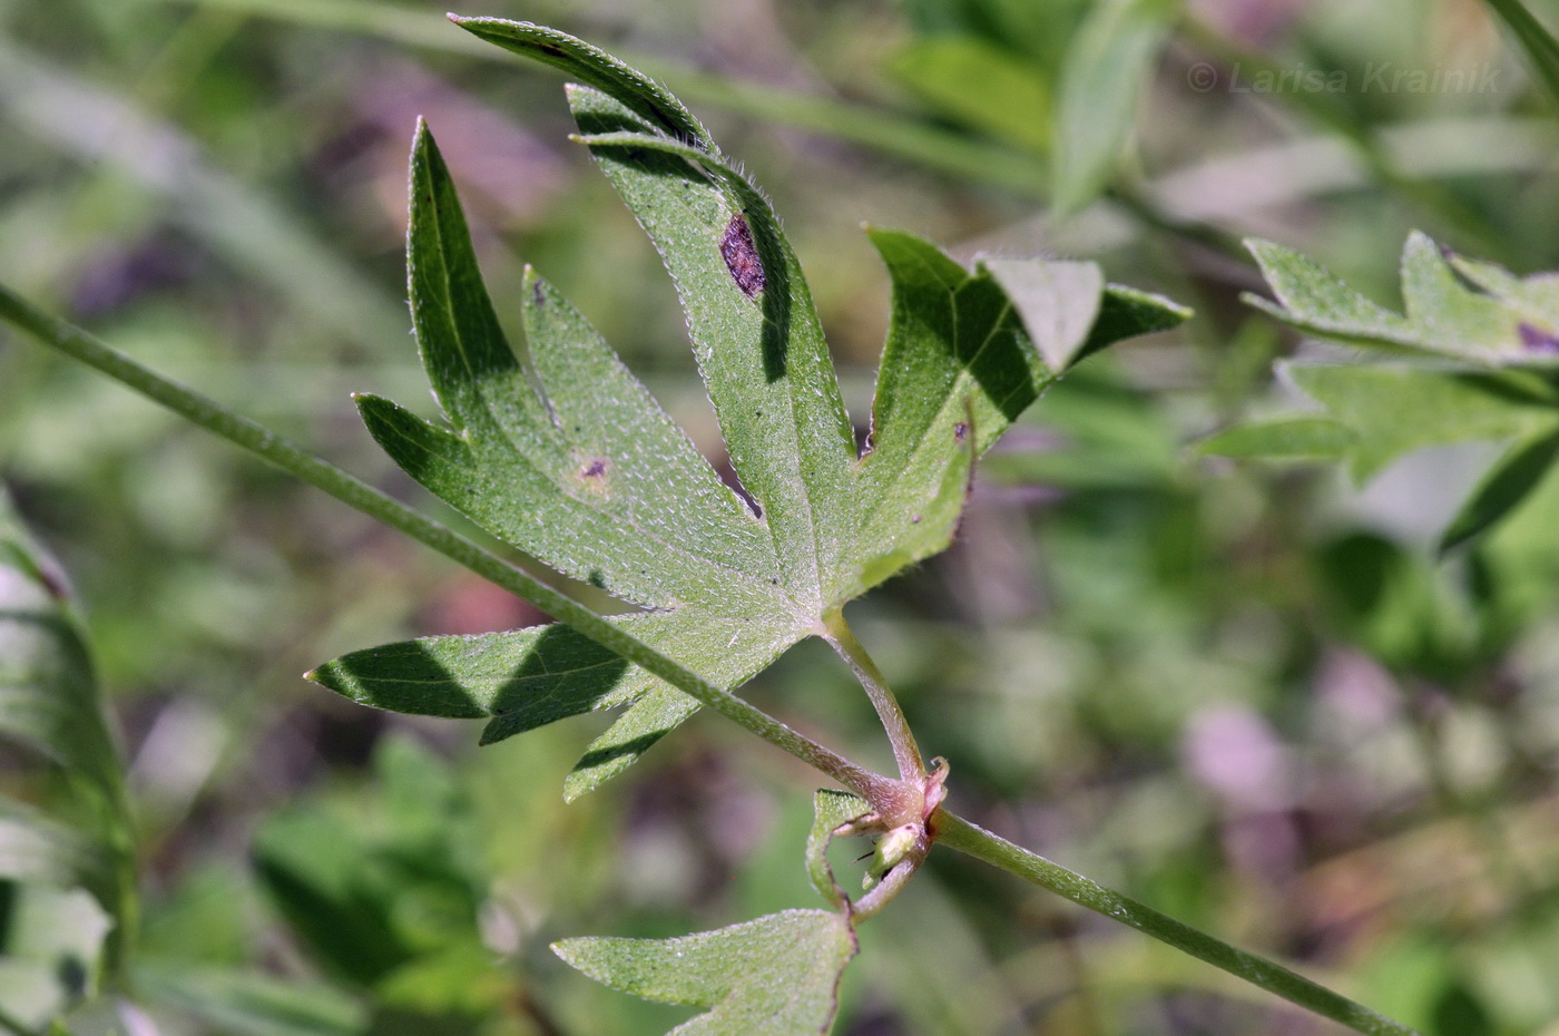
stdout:
[(0, 320), (9, 320), (42, 343), (81, 360), (87, 367), (103, 371), (148, 399), (200, 424), (206, 431), (259, 454), (282, 471), (329, 493), (369, 518), (433, 548), (444, 557), (465, 565), (504, 590), (530, 601), (564, 626), (571, 626), (602, 648), (608, 648), (628, 662), (653, 672), (677, 690), (691, 694), (717, 713), (751, 730), (764, 741), (784, 749), (842, 785), (859, 791), (871, 802), (892, 799), (896, 794), (898, 782), (856, 766), (842, 755), (792, 730), (769, 713), (709, 683), (692, 669), (672, 662), (572, 598), (514, 568), (452, 529), (424, 518), (405, 504), (385, 496), (371, 485), (315, 457), (262, 424), (242, 418), (214, 399), (142, 367), (86, 331), (31, 306), (5, 286), (0, 286)]

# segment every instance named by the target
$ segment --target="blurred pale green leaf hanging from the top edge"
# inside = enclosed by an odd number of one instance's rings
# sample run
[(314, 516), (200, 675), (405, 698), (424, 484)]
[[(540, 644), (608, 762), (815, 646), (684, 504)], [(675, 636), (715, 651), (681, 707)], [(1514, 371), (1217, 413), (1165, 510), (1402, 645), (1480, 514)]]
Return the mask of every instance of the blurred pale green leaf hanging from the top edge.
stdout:
[(1057, 89), (1057, 212), (1076, 212), (1110, 183), (1174, 12), (1166, 0), (1107, 0), (1085, 17)]

